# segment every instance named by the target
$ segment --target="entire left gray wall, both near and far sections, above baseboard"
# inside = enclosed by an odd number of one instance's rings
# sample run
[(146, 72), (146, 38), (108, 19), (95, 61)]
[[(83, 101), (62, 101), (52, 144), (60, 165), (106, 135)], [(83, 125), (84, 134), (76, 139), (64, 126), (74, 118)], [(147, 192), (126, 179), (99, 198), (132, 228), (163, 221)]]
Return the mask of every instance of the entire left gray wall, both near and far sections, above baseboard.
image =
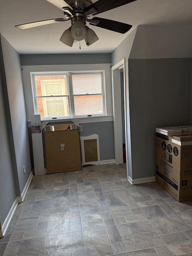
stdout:
[(0, 93), (0, 221), (2, 225), (16, 197), (21, 196), (32, 171), (20, 56), (2, 35), (0, 35), (0, 69), (2, 91)]

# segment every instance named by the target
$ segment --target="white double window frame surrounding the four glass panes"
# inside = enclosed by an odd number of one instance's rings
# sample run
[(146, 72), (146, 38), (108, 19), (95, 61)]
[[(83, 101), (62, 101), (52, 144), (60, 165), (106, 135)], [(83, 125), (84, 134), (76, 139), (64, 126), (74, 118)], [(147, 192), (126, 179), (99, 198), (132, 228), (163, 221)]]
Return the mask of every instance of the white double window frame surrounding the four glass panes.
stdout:
[[(102, 95), (102, 107), (103, 113), (101, 114), (83, 114), (83, 115), (75, 115), (75, 106), (74, 106), (74, 95), (73, 94), (73, 84), (72, 84), (72, 75), (73, 74), (101, 74), (101, 91), (102, 93), (97, 94), (89, 94), (89, 95)], [(36, 85), (35, 85), (35, 76), (48, 76), (48, 75), (62, 75), (66, 76), (66, 83), (67, 83), (67, 95), (59, 95), (59, 97), (68, 97), (68, 105), (69, 105), (69, 116), (47, 116), (41, 117), (41, 120), (49, 120), (53, 118), (57, 119), (66, 119), (66, 118), (81, 118), (81, 117), (93, 117), (93, 116), (107, 116), (107, 99), (106, 99), (106, 84), (105, 84), (105, 70), (75, 70), (75, 71), (41, 71), (41, 72), (30, 72), (31, 76), (31, 85), (32, 85), (32, 95), (33, 95), (33, 105), (34, 105), (34, 113), (39, 114), (38, 112), (38, 103), (37, 98), (48, 98), (48, 97), (58, 97), (58, 96), (37, 96), (36, 92)], [(59, 79), (55, 79), (59, 80)], [(62, 80), (62, 79), (60, 79)], [(54, 81), (54, 80), (52, 80)], [(84, 95), (84, 94), (82, 94)], [(81, 96), (81, 95), (80, 95)], [(86, 95), (84, 95), (86, 96)]]

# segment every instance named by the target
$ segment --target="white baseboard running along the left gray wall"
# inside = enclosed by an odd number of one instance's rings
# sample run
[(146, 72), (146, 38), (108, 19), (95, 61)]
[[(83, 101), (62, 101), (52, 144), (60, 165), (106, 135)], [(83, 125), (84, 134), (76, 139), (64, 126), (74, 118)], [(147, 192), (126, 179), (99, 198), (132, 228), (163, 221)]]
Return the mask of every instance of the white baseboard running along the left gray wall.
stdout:
[(23, 191), (21, 193), (21, 196), (16, 197), (15, 201), (13, 202), (13, 205), (12, 205), (8, 215), (7, 215), (7, 218), (5, 219), (5, 221), (4, 221), (4, 223), (3, 223), (2, 227), (1, 227), (0, 237), (3, 237), (5, 235), (5, 233), (7, 231), (7, 228), (9, 226), (9, 223), (10, 223), (10, 221), (11, 221), (11, 219), (13, 217), (13, 214), (14, 214), (16, 208), (17, 208), (18, 203), (22, 203), (23, 202), (23, 200), (24, 200), (24, 198), (26, 196), (27, 190), (29, 188), (29, 185), (31, 183), (32, 177), (33, 177), (33, 170), (31, 171), (31, 173), (29, 175), (29, 178), (28, 178), (27, 183), (26, 183), (26, 185), (25, 185), (25, 187), (24, 187), (24, 189), (23, 189)]

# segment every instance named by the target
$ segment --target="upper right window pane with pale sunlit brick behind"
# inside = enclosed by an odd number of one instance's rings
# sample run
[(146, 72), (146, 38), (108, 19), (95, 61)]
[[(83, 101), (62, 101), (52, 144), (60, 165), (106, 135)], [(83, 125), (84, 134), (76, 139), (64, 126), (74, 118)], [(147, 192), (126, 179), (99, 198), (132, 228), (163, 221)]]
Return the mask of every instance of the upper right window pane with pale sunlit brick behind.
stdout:
[(73, 94), (102, 93), (101, 74), (72, 75)]

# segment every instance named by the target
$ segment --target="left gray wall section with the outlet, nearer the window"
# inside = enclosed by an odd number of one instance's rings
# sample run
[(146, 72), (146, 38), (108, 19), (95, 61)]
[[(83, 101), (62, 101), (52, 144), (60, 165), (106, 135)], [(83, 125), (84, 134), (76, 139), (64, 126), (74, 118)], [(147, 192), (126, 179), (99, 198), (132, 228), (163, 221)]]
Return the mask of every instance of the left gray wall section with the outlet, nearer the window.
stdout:
[[(32, 171), (32, 165), (20, 55), (2, 36), (1, 42), (13, 131), (13, 143), (16, 156), (16, 168), (19, 177), (19, 187), (22, 192)], [(26, 174), (23, 172), (24, 165), (26, 168)]]

